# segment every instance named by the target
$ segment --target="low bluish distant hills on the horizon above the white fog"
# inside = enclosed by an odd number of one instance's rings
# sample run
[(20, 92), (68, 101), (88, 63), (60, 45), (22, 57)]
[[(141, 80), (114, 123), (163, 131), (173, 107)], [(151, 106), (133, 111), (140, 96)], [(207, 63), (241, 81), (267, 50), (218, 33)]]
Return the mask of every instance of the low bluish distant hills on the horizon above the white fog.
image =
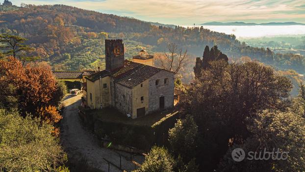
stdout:
[(303, 23), (296, 23), (296, 22), (270, 22), (270, 23), (245, 23), (245, 22), (207, 22), (203, 23), (201, 25), (209, 25), (209, 26), (254, 26), (254, 25), (260, 25), (260, 26), (289, 26), (289, 25), (305, 25)]

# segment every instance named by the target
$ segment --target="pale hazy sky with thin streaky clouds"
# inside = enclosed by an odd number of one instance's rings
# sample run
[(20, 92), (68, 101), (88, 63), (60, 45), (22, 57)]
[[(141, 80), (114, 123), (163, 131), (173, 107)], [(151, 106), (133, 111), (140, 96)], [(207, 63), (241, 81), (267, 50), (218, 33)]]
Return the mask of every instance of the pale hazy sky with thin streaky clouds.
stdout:
[(205, 22), (305, 23), (305, 0), (11, 0), (13, 4), (66, 4), (163, 24)]

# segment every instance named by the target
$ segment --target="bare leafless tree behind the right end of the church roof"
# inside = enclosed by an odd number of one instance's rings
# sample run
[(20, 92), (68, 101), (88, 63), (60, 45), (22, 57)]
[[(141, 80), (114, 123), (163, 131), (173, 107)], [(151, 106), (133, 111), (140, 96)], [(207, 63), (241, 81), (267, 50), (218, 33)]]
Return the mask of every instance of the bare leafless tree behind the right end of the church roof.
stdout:
[(157, 56), (157, 64), (171, 72), (174, 72), (176, 76), (181, 77), (181, 72), (184, 72), (184, 68), (189, 64), (189, 56), (187, 50), (183, 51), (174, 43), (167, 45), (168, 52)]

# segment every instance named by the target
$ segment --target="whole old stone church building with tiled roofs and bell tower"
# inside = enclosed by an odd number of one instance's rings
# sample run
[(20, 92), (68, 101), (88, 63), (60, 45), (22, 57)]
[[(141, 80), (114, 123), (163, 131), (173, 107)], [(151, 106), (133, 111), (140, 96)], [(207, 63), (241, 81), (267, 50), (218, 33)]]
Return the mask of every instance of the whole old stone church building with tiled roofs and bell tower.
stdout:
[(145, 50), (124, 58), (121, 39), (105, 40), (106, 69), (86, 77), (84, 95), (91, 109), (115, 107), (132, 118), (174, 106), (174, 73), (153, 66)]

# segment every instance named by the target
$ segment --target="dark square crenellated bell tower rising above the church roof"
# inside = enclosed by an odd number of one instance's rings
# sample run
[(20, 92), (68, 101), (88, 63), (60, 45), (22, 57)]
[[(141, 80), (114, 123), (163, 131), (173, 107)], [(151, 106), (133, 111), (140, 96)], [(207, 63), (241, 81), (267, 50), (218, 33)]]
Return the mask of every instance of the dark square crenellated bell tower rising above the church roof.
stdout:
[(105, 39), (106, 70), (124, 67), (124, 44), (122, 39)]

